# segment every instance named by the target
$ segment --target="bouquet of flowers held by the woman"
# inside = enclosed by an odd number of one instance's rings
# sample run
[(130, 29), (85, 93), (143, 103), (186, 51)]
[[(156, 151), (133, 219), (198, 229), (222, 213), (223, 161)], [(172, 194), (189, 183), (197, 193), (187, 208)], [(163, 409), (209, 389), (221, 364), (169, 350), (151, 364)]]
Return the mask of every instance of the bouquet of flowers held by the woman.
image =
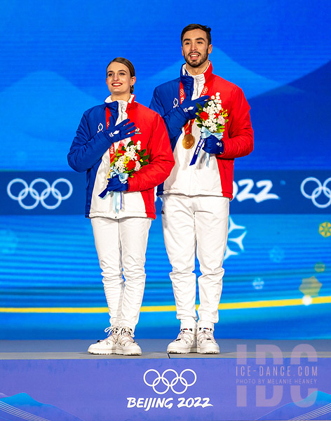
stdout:
[[(128, 142), (126, 147), (121, 144), (114, 150), (114, 145), (109, 149), (110, 156), (110, 169), (107, 174), (107, 180), (119, 175), (121, 182), (126, 182), (129, 177), (133, 177), (135, 171), (139, 171), (140, 168), (148, 164), (149, 155), (146, 154), (146, 149), (140, 150), (141, 142), (137, 141), (137, 145), (133, 143), (133, 140)], [(99, 194), (101, 199), (105, 199), (110, 192), (104, 189)], [(121, 192), (114, 192), (113, 210), (118, 213), (121, 209)]]

